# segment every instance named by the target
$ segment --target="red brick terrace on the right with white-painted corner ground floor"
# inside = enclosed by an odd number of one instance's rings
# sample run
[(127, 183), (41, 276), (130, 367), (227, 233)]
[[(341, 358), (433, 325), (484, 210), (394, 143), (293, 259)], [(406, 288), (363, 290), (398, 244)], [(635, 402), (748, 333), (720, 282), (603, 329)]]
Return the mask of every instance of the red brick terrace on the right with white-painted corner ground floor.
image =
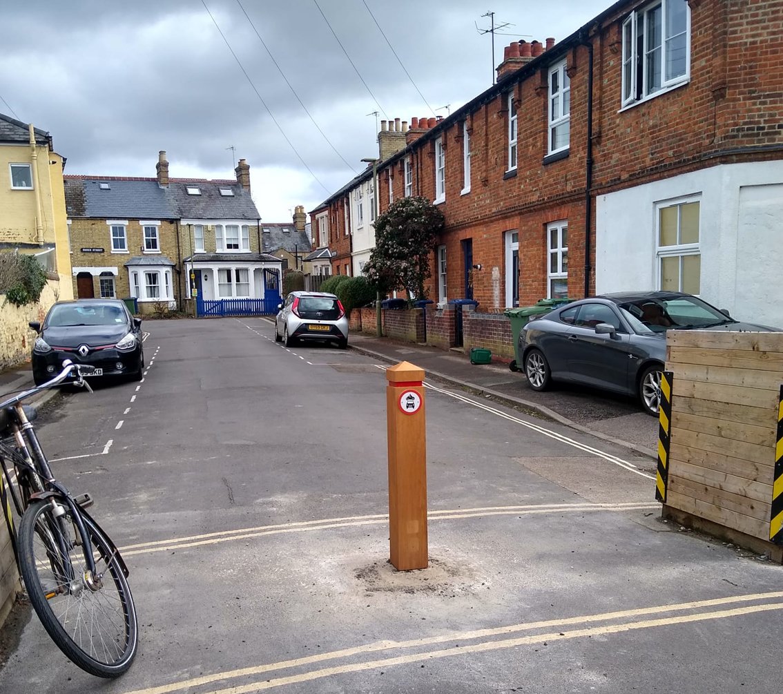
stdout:
[[(761, 302), (781, 286), (781, 37), (783, 0), (622, 0), (559, 43), (512, 43), (496, 85), (403, 124), (377, 164), (380, 210), (441, 207), (438, 303), (671, 288), (783, 325)], [(334, 273), (348, 194), (371, 175), (311, 213), (327, 211)]]

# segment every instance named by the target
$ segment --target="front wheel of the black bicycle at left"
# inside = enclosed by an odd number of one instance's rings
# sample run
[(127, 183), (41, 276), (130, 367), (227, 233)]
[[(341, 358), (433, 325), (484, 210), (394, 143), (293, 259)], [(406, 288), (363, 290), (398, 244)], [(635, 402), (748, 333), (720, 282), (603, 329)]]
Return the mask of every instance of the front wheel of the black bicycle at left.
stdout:
[[(20, 569), (30, 602), (60, 650), (97, 677), (119, 677), (136, 654), (133, 598), (111, 543), (81, 516), (92, 544), (96, 575), (88, 571), (73, 512), (35, 501), (19, 529)], [(58, 511), (59, 512), (59, 511)]]

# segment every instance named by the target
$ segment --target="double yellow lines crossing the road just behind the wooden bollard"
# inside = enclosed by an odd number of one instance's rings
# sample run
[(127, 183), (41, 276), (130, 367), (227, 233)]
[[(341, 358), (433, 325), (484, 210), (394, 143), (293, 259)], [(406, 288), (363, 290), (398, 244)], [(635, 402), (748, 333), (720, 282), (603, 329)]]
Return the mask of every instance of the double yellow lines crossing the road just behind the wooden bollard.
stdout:
[[(455, 508), (451, 510), (429, 511), (430, 520), (453, 520), (467, 518), (483, 518), (490, 515), (540, 515), (559, 512), (594, 512), (594, 511), (648, 511), (657, 510), (660, 504), (656, 502), (624, 501), (617, 504), (591, 504), (589, 502), (576, 504), (526, 504), (523, 506), (487, 506), (483, 508)], [(247, 540), (251, 537), (279, 535), (281, 533), (301, 533), (309, 530), (330, 530), (352, 526), (370, 526), (388, 523), (388, 514), (355, 515), (343, 518), (319, 519), (312, 521), (295, 521), (269, 526), (254, 526), (237, 530), (221, 530), (215, 533), (189, 535), (186, 537), (154, 540), (139, 544), (129, 544), (122, 548), (125, 556), (142, 555), (148, 552), (168, 551), (200, 547), (207, 544), (218, 544), (230, 540)]]

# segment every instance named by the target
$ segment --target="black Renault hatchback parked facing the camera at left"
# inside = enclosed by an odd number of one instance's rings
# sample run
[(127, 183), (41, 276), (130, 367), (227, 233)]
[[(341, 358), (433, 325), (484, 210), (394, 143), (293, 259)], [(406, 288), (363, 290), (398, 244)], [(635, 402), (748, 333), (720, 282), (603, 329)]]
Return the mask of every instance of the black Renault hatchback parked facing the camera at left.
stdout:
[(35, 385), (54, 378), (67, 359), (96, 367), (92, 376), (127, 375), (140, 381), (144, 369), (141, 324), (117, 299), (57, 302), (43, 324), (30, 323), (38, 333), (32, 359)]

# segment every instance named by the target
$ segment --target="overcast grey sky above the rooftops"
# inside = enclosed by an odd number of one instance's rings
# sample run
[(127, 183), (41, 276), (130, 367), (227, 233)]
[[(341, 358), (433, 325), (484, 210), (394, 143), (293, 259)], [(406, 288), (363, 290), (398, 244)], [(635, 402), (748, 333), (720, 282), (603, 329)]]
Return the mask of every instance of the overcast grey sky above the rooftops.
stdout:
[[(166, 150), (172, 177), (225, 179), (244, 157), (262, 218), (286, 222), (377, 156), (367, 114), (445, 116), (492, 84), (504, 45), (559, 42), (612, 2), (4, 2), (0, 113), (49, 131), (70, 174), (153, 176)], [(495, 60), (476, 29), (490, 9), (511, 24)]]

